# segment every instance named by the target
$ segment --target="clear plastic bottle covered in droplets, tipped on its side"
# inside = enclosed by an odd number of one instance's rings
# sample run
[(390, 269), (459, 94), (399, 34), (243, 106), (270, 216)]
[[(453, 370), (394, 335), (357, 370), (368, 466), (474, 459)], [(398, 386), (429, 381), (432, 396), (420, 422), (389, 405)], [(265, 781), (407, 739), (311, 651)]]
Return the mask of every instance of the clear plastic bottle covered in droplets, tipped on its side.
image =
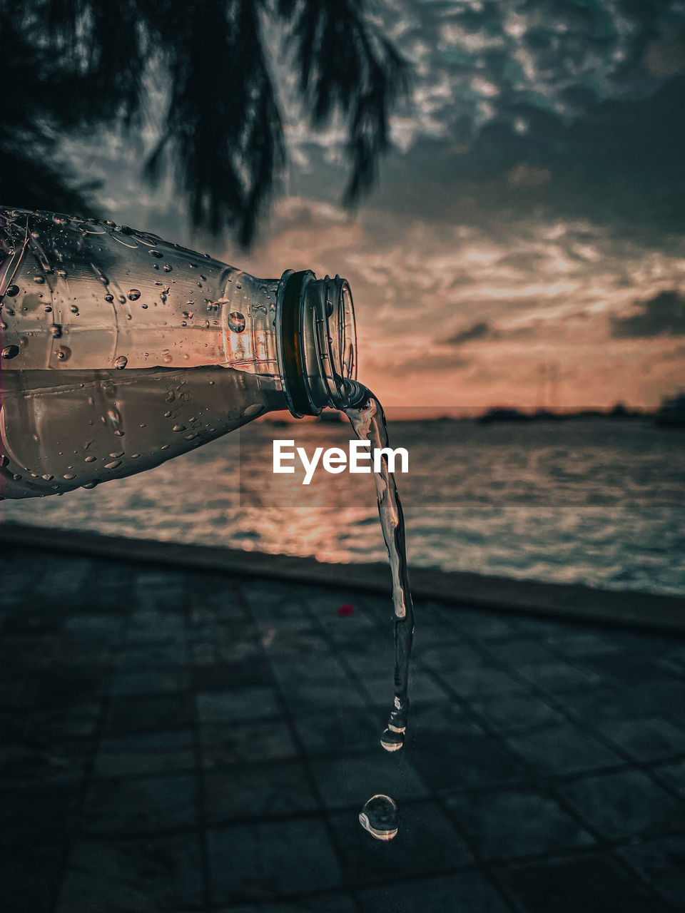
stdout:
[(3, 498), (94, 488), (362, 389), (344, 279), (255, 278), (110, 221), (1, 217)]

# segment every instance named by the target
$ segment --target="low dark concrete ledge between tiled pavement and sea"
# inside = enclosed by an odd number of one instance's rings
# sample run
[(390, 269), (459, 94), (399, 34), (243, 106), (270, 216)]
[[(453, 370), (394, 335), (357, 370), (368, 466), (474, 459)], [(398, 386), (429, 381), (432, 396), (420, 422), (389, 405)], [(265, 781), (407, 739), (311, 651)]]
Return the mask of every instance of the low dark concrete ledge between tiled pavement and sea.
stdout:
[[(207, 568), (214, 572), (247, 574), (271, 580), (390, 593), (390, 572), (385, 563), (330, 564), (314, 558), (125, 536), (101, 536), (16, 523), (3, 523), (1, 532), (3, 542), (45, 551), (67, 551), (69, 554), (192, 569)], [(685, 635), (685, 597), (630, 590), (598, 590), (571, 583), (514, 580), (426, 568), (412, 568), (410, 572), (415, 597), (441, 603), (595, 624), (620, 624)]]

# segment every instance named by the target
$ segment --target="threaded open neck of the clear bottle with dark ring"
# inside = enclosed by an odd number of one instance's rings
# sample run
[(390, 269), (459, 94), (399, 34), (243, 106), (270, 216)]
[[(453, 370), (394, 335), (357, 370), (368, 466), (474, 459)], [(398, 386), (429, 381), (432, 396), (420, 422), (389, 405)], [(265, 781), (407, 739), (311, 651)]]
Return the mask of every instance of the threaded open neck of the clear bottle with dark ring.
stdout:
[(356, 331), (346, 279), (283, 273), (277, 304), (279, 373), (290, 413), (319, 415), (359, 398)]

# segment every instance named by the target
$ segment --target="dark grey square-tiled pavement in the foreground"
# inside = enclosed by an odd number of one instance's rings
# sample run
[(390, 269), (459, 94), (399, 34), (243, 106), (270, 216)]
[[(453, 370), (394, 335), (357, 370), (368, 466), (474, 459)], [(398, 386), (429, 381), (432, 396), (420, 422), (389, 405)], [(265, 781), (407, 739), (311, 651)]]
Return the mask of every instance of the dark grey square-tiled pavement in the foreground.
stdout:
[(682, 639), (419, 603), (389, 755), (384, 599), (11, 544), (2, 583), (6, 913), (685, 910)]

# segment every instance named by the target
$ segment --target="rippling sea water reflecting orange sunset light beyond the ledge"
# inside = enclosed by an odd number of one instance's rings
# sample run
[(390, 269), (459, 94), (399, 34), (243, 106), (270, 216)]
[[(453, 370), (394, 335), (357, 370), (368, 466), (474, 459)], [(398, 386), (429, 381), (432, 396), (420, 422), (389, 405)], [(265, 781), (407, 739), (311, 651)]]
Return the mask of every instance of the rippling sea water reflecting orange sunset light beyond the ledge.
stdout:
[[(42, 527), (385, 561), (369, 476), (274, 476), (274, 437), (341, 446), (346, 425), (253, 423), (141, 476), (5, 501)], [(685, 593), (685, 431), (647, 420), (395, 422), (409, 563), (613, 589)]]

